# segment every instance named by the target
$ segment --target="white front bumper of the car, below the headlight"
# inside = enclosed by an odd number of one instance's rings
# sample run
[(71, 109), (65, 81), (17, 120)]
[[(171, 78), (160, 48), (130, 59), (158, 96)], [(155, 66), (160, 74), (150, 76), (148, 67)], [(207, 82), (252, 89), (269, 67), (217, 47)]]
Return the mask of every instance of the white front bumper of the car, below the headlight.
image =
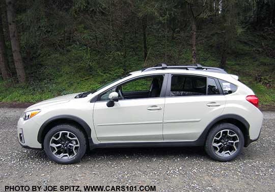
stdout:
[(28, 149), (42, 149), (41, 144), (37, 141), (39, 125), (33, 120), (24, 121), (20, 118), (17, 123), (17, 138), (19, 144)]

